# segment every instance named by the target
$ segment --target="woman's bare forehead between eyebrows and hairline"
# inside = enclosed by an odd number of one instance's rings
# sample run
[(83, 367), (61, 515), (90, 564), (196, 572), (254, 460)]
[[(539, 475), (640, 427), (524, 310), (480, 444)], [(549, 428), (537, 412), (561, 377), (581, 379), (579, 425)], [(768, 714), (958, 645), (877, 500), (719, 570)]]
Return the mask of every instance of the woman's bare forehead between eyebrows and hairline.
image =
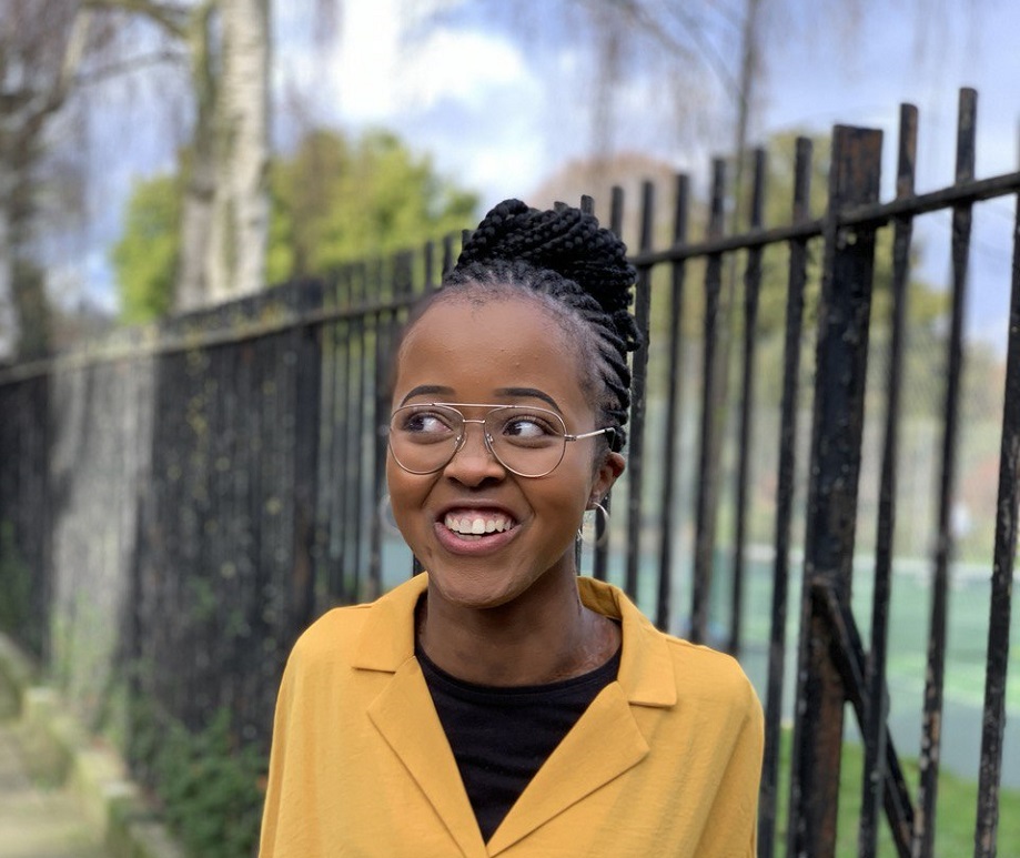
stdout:
[(450, 390), (458, 402), (497, 402), (495, 392), (534, 387), (564, 410), (589, 406), (578, 350), (559, 320), (523, 297), (450, 299), (433, 304), (397, 353), (394, 403), (417, 386)]

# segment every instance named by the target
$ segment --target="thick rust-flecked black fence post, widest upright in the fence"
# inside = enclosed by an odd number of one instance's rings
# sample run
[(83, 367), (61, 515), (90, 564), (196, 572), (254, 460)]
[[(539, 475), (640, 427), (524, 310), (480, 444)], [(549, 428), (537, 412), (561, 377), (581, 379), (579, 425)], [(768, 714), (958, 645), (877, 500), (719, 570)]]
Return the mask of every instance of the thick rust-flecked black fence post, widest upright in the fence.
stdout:
[(848, 208), (878, 201), (880, 131), (837, 127), (829, 172), (818, 311), (815, 410), (790, 773), (788, 854), (827, 858), (836, 817), (847, 693), (834, 658), (834, 604), (849, 606), (864, 430), (875, 228), (840, 226)]

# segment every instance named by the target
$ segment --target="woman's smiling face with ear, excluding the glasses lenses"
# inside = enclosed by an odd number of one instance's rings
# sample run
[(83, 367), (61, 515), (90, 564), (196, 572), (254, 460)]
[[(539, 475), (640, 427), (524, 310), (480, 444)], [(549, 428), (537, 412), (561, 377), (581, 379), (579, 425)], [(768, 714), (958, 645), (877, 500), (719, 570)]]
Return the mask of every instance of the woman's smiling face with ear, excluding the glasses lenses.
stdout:
[[(577, 353), (536, 302), (441, 300), (404, 340), (393, 407), (529, 405), (559, 414), (570, 434), (590, 432), (600, 426), (582, 390)], [(487, 408), (462, 411), (481, 420)], [(602, 452), (598, 437), (584, 438), (567, 443), (548, 475), (522, 477), (488, 452), (479, 424), (466, 432), (457, 454), (433, 474), (410, 474), (392, 454), (386, 460), (393, 514), (431, 586), (451, 604), (483, 608), (518, 598), (544, 575), (573, 575), (582, 515), (623, 472), (623, 457)], [(478, 521), (495, 529), (464, 534)]]

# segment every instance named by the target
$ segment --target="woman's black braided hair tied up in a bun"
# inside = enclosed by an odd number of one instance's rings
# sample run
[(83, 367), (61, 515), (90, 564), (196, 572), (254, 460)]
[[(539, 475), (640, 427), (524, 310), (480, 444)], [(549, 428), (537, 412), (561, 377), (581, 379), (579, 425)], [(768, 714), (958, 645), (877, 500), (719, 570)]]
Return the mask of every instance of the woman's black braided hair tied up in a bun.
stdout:
[(580, 355), (582, 382), (612, 426), (610, 448), (626, 442), (630, 407), (627, 353), (640, 345), (628, 307), (634, 266), (626, 245), (594, 215), (557, 205), (531, 209), (519, 200), (496, 205), (468, 238), (435, 300), (464, 295), (531, 295), (572, 334)]

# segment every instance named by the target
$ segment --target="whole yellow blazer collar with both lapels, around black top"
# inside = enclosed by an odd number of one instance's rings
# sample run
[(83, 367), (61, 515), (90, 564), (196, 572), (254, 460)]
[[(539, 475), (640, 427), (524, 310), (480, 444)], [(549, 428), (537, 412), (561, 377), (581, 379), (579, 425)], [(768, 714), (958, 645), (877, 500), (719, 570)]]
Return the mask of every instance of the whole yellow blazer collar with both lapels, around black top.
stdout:
[[(462, 855), (495, 856), (645, 758), (648, 743), (632, 707), (676, 704), (673, 660), (666, 637), (622, 590), (590, 578), (578, 578), (584, 604), (618, 619), (623, 626), (617, 682), (606, 686), (593, 700), (522, 793), (486, 847), (414, 658), (414, 606), (427, 585), (426, 575), (418, 575), (367, 608), (354, 667), (393, 675), (368, 706), (368, 717), (418, 784)], [(612, 741), (607, 741), (609, 736)]]

